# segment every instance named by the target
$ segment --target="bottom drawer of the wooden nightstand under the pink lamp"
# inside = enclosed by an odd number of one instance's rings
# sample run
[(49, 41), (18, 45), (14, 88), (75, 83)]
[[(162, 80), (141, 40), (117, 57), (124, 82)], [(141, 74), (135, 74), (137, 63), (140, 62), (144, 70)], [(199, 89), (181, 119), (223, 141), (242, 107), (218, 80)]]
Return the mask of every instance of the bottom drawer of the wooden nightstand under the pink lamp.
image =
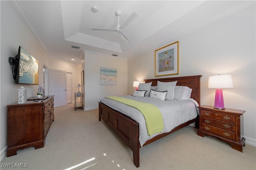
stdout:
[(222, 137), (225, 137), (225, 138), (228, 138), (228, 139), (232, 139), (234, 141), (236, 140), (236, 133), (231, 132), (231, 131), (226, 131), (224, 129), (220, 129), (218, 127), (213, 127), (213, 126), (206, 125), (206, 124), (203, 124), (203, 123), (201, 125), (201, 129), (203, 131), (214, 133), (216, 135), (219, 135), (219, 136), (222, 136)]

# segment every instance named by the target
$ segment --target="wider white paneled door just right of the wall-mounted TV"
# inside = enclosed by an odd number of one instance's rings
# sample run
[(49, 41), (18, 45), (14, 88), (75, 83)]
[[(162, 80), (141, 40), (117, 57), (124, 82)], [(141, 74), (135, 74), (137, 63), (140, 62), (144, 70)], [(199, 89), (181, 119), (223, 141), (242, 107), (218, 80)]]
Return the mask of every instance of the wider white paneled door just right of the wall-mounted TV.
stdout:
[(48, 69), (48, 94), (54, 95), (54, 107), (67, 105), (67, 72)]

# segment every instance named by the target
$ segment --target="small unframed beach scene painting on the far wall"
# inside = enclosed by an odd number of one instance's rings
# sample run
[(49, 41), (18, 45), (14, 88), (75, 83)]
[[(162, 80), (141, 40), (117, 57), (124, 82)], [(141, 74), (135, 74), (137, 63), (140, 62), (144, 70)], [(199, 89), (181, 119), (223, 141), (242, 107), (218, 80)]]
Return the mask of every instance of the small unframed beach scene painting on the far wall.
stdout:
[(100, 67), (100, 85), (116, 85), (117, 69)]

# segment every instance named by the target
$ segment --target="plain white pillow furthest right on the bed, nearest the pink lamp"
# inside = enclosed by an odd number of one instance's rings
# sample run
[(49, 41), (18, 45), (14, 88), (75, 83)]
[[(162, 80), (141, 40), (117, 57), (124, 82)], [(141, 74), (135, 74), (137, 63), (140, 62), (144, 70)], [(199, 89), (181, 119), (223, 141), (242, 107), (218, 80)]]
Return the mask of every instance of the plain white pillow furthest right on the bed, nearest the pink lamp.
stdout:
[(190, 98), (192, 89), (187, 86), (175, 86), (173, 100), (186, 100)]

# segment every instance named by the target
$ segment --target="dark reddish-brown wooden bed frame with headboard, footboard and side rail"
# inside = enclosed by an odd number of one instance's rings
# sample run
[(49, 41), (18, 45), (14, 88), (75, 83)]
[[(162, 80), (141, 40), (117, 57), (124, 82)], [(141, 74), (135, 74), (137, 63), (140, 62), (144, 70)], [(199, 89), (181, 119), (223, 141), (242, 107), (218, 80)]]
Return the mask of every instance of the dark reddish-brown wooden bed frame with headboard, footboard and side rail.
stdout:
[[(187, 86), (192, 89), (191, 97), (200, 105), (200, 78), (202, 75), (197, 76), (183, 76), (173, 78), (157, 78), (145, 80), (145, 83), (152, 82), (151, 86), (157, 86), (157, 82), (174, 82), (177, 81), (176, 86)], [(132, 150), (134, 165), (138, 168), (140, 166), (140, 127), (139, 123), (129, 116), (113, 109), (112, 107), (99, 102), (99, 121), (101, 119), (122, 139), (122, 141)], [(191, 123), (195, 122), (195, 127), (199, 128), (199, 115), (196, 118), (190, 119), (181, 125), (178, 125), (168, 133), (161, 133), (152, 137), (143, 143), (143, 146), (148, 145), (170, 133), (173, 133)]]

